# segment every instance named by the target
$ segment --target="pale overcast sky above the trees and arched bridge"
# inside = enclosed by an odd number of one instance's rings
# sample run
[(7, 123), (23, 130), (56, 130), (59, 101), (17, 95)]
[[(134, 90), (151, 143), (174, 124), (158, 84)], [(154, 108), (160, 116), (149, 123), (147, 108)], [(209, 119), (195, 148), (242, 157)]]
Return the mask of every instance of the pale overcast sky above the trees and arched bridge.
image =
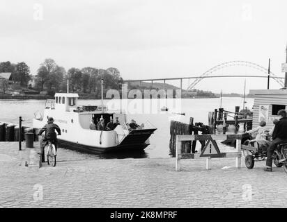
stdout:
[[(0, 0), (0, 61), (24, 61), (36, 74), (53, 58), (66, 70), (116, 67), (123, 79), (141, 79), (201, 76), (233, 60), (267, 68), (270, 58), (283, 77), (286, 8), (282, 0)], [(217, 74), (263, 75), (236, 66)], [(209, 78), (196, 88), (242, 93), (244, 80)], [(247, 92), (266, 87), (266, 79), (247, 78)], [(270, 88), (279, 87), (271, 80)]]

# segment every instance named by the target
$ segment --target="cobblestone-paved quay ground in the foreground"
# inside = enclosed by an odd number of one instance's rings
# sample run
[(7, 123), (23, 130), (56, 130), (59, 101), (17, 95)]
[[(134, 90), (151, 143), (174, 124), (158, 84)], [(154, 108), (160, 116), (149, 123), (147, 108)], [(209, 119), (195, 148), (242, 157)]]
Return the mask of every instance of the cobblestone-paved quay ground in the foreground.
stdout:
[(174, 158), (101, 160), (59, 148), (56, 167), (24, 167), (35, 153), (0, 143), (0, 207), (287, 206), (287, 174), (263, 172), (264, 162), (249, 170), (243, 159), (241, 169), (217, 159), (206, 171), (204, 159), (182, 160), (176, 172)]

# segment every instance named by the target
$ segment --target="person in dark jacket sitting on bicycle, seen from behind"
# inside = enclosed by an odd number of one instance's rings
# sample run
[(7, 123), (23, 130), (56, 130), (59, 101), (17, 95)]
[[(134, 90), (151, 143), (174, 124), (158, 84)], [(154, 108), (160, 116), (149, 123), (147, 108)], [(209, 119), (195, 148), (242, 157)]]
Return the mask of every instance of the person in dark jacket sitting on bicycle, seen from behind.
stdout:
[(61, 135), (61, 129), (58, 125), (54, 124), (53, 117), (49, 117), (47, 124), (39, 131), (38, 135), (42, 135), (42, 133), (45, 132), (45, 137), (43, 137), (40, 141), (40, 154), (44, 153), (44, 147), (47, 145), (47, 143), (50, 141), (52, 144), (54, 144), (56, 151), (57, 151), (57, 135)]

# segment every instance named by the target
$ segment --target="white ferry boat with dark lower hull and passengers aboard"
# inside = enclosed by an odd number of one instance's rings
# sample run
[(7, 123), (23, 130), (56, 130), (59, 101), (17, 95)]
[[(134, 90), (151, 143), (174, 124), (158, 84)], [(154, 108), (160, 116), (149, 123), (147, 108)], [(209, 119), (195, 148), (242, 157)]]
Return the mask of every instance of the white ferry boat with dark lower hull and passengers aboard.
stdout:
[[(42, 128), (47, 123), (47, 118), (53, 117), (54, 123), (61, 128), (61, 135), (58, 135), (59, 146), (93, 153), (143, 151), (149, 145), (148, 138), (156, 128), (128, 130), (125, 113), (92, 105), (79, 107), (78, 97), (75, 93), (56, 93), (54, 100), (46, 101), (44, 114), (38, 112), (35, 115), (33, 128)], [(111, 118), (118, 119), (120, 125), (110, 131), (91, 130), (91, 121), (101, 117), (105, 126)]]

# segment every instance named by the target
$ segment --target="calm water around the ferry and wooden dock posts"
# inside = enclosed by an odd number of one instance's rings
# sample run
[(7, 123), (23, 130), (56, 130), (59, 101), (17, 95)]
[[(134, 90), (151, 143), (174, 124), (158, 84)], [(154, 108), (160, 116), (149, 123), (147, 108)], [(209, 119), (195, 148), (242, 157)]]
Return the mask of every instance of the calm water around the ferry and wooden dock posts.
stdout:
[[(194, 117), (195, 122), (208, 123), (208, 112), (219, 108), (220, 99), (182, 99), (181, 103), (176, 103), (174, 100), (171, 101), (160, 101), (153, 100), (156, 107), (153, 112), (146, 114), (138, 113), (138, 110), (130, 109), (130, 113), (127, 114), (127, 121), (135, 119), (137, 123), (146, 123), (149, 121), (152, 123), (157, 130), (155, 134), (150, 137), (150, 146), (145, 149), (145, 154), (141, 157), (169, 157), (169, 121), (174, 114), (172, 112), (185, 112), (183, 121), (189, 122), (189, 117)], [(252, 108), (254, 99), (246, 99), (247, 108)], [(128, 104), (130, 107), (141, 107), (146, 101), (141, 100), (129, 100)], [(132, 103), (137, 103), (134, 105)], [(225, 110), (234, 112), (235, 106), (240, 105), (242, 108), (242, 98), (223, 98), (222, 107)], [(112, 105), (111, 101), (104, 101), (105, 105), (109, 108), (115, 108), (116, 105)], [(170, 108), (169, 112), (160, 112), (160, 108), (166, 104)], [(43, 113), (45, 101), (39, 100), (1, 100), (0, 101), (0, 121), (18, 123), (18, 118), (22, 116), (24, 119), (24, 126), (32, 126), (33, 114), (36, 111)], [(79, 100), (79, 105), (100, 105), (100, 100)], [(113, 156), (104, 156), (113, 157)], [(129, 157), (129, 156), (127, 156)], [(130, 156), (135, 157), (135, 156)]]

